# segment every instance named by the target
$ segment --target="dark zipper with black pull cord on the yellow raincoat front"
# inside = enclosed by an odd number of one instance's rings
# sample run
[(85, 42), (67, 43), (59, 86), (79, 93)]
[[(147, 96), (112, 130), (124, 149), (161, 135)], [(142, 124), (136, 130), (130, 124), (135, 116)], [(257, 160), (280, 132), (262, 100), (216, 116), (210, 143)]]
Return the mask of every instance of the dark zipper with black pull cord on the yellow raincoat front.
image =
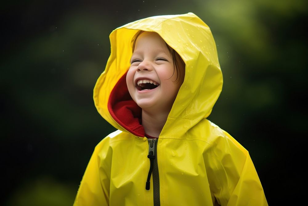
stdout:
[(153, 174), (153, 200), (154, 206), (160, 205), (160, 194), (159, 194), (159, 174), (157, 165), (157, 142), (158, 139), (148, 139), (149, 142), (149, 153), (148, 158), (150, 159), (150, 170), (148, 173), (148, 179), (145, 184), (145, 189), (150, 189), (151, 174)]

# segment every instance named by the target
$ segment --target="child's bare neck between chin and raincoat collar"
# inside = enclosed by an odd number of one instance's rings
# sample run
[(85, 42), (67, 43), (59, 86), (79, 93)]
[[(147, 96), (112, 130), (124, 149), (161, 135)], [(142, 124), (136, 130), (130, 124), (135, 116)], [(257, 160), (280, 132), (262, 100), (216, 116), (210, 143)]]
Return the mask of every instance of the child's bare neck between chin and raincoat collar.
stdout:
[(160, 112), (148, 112), (142, 110), (142, 126), (146, 134), (152, 137), (159, 137), (161, 130), (163, 129), (168, 113)]

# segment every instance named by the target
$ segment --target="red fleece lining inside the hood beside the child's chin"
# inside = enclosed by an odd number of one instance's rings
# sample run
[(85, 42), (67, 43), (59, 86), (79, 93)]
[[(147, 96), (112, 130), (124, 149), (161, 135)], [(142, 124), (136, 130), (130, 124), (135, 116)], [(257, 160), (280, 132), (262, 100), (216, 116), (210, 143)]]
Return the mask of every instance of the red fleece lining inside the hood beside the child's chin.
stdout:
[(116, 83), (108, 100), (108, 111), (112, 118), (128, 132), (144, 137), (141, 125), (141, 108), (134, 102), (126, 85), (126, 73)]

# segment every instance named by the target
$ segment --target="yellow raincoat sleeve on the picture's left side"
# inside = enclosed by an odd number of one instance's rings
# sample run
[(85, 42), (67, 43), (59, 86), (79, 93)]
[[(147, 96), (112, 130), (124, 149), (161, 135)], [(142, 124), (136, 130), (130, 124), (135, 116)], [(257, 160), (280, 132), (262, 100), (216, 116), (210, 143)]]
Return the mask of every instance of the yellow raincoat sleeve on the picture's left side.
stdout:
[(94, 149), (80, 183), (74, 206), (109, 205), (111, 148), (107, 137)]

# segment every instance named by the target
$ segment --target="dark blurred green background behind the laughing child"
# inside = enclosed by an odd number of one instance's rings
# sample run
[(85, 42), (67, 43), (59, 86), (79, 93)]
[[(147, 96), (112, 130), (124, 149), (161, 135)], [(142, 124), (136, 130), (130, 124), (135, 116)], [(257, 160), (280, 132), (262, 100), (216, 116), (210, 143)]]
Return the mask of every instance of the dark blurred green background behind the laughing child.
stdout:
[(1, 4), (0, 205), (73, 204), (95, 145), (115, 130), (92, 100), (110, 32), (188, 12), (211, 28), (224, 74), (209, 120), (249, 151), (270, 205), (306, 200), (307, 1)]

